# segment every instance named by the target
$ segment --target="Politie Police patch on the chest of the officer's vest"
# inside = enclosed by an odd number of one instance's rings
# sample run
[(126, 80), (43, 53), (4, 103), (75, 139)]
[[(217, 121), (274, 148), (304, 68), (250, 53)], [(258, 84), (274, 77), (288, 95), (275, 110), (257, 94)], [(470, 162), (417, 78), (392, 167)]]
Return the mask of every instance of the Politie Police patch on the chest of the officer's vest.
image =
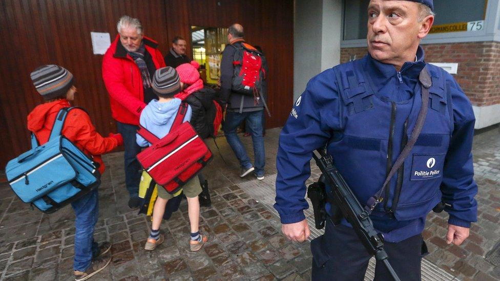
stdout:
[(413, 155), (411, 181), (422, 181), (443, 177), (446, 154)]

